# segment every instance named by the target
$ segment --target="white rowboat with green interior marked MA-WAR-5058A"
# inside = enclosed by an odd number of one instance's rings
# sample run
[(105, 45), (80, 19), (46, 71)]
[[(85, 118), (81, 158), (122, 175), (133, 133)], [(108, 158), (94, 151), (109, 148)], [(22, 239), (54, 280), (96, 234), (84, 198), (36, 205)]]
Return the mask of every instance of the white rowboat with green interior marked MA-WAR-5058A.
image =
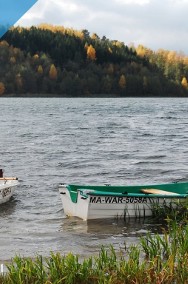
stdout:
[(188, 183), (139, 186), (59, 185), (67, 216), (83, 220), (152, 216), (157, 205), (188, 197)]

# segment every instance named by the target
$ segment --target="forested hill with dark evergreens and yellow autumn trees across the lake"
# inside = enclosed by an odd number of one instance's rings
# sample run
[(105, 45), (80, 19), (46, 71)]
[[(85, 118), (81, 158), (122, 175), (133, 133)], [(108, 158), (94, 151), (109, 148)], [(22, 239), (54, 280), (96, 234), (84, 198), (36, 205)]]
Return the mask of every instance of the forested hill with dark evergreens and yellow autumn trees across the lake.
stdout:
[(0, 42), (0, 95), (188, 96), (188, 57), (87, 30), (13, 28)]

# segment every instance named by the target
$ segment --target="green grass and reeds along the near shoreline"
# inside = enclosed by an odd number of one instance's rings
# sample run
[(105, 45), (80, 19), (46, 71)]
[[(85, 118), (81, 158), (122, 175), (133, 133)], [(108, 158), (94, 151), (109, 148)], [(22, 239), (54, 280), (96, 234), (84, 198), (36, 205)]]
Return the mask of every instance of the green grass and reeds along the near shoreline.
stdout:
[[(178, 222), (180, 211), (183, 219)], [(7, 264), (8, 273), (0, 276), (0, 284), (186, 284), (187, 202), (180, 205), (180, 211), (177, 208), (169, 215), (163, 234), (149, 232), (141, 237), (139, 245), (125, 244), (119, 251), (113, 246), (102, 247), (98, 256), (84, 260), (72, 253), (51, 253), (47, 258), (35, 259), (16, 256)]]

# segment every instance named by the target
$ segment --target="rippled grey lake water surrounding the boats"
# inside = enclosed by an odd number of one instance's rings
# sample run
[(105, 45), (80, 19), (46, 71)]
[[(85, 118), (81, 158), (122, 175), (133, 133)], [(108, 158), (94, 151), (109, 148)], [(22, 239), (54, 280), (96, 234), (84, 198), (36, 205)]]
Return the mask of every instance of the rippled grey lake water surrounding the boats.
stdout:
[(59, 183), (188, 180), (188, 100), (1, 98), (0, 167), (20, 180), (0, 208), (0, 259), (96, 253), (138, 242), (150, 220), (66, 218)]

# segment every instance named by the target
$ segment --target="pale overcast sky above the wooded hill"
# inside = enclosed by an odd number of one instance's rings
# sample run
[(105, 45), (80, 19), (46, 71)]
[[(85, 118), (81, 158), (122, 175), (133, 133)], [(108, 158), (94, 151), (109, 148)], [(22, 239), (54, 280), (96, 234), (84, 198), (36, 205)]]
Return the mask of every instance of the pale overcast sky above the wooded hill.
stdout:
[(38, 0), (17, 22), (50, 23), (188, 55), (188, 0)]

